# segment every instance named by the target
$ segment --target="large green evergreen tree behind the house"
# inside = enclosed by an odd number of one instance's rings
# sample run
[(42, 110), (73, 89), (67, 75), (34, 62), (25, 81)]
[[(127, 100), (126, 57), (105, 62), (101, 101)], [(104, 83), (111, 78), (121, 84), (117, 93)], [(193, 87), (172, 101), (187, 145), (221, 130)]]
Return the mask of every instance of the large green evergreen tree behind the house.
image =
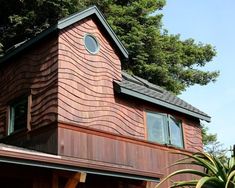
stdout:
[(97, 5), (127, 50), (122, 68), (179, 94), (194, 84), (206, 85), (219, 73), (203, 71), (216, 55), (209, 44), (181, 40), (163, 30), (159, 14), (165, 0), (0, 0), (0, 43), (3, 51), (56, 20)]

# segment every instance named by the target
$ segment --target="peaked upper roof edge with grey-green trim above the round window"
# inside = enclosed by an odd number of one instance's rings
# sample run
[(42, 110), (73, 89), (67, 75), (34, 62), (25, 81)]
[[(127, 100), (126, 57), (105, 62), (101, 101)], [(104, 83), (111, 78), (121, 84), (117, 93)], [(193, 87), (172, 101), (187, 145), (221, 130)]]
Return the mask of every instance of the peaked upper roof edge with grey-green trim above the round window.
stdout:
[(46, 38), (51, 33), (62, 30), (64, 28), (71, 26), (72, 24), (79, 22), (79, 21), (81, 21), (87, 17), (90, 17), (90, 16), (95, 16), (99, 20), (99, 22), (101, 23), (101, 26), (108, 33), (108, 35), (112, 39), (113, 43), (115, 44), (115, 46), (118, 49), (118, 51), (120, 52), (120, 54), (122, 56), (124, 56), (125, 58), (128, 58), (128, 51), (123, 46), (121, 41), (118, 39), (117, 35), (114, 33), (113, 29), (110, 27), (110, 25), (108, 24), (108, 22), (104, 18), (103, 14), (99, 11), (99, 9), (96, 6), (92, 6), (92, 7), (89, 7), (81, 12), (72, 14), (66, 18), (59, 20), (55, 25), (44, 30), (43, 32), (36, 35), (32, 39), (13, 46), (13, 48), (11, 50), (9, 50), (9, 52), (7, 52), (2, 58), (0, 58), (0, 63), (5, 62), (9, 58), (19, 54), (20, 52), (22, 52), (26, 48), (31, 47), (33, 44)]

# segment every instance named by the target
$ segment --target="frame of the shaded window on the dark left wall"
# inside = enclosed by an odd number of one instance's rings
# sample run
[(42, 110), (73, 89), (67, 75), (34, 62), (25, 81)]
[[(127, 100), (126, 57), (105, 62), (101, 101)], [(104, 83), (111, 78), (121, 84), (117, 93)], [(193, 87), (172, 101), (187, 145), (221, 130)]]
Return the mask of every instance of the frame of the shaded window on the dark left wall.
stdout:
[[(13, 109), (26, 102), (27, 105), (27, 112), (26, 112), (26, 125), (20, 129), (15, 130), (14, 128), (14, 120), (12, 119), (12, 113)], [(12, 102), (8, 105), (8, 123), (7, 123), (7, 136), (13, 135), (15, 133), (21, 132), (23, 130), (30, 130), (30, 122), (31, 122), (31, 104), (32, 104), (32, 95), (23, 95), (21, 97), (18, 97), (14, 99)], [(15, 118), (15, 117), (14, 117)]]

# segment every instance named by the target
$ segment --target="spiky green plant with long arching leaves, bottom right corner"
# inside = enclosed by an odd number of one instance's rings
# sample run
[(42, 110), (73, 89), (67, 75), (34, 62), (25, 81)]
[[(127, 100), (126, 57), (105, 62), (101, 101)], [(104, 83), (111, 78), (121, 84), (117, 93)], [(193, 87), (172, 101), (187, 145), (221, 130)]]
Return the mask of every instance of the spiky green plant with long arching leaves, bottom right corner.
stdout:
[[(235, 153), (235, 151), (234, 151)], [(171, 166), (190, 164), (202, 167), (204, 171), (195, 169), (182, 169), (177, 170), (169, 174), (164, 178), (156, 188), (160, 187), (163, 182), (170, 179), (173, 176), (179, 174), (192, 174), (199, 178), (197, 180), (177, 181), (173, 183), (173, 187), (196, 187), (196, 188), (235, 188), (235, 156), (234, 154), (229, 159), (228, 164), (223, 164), (217, 157), (204, 153), (198, 152), (192, 155), (187, 153), (181, 153), (184, 158), (178, 160)]]

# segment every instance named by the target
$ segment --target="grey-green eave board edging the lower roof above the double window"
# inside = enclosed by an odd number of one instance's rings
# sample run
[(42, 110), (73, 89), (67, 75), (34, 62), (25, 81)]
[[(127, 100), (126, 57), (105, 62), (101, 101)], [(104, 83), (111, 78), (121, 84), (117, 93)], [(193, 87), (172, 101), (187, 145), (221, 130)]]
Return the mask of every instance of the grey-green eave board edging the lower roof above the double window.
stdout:
[(135, 97), (135, 98), (138, 98), (138, 99), (141, 99), (141, 100), (153, 103), (153, 104), (157, 104), (159, 106), (163, 106), (165, 108), (168, 108), (168, 109), (171, 109), (171, 110), (175, 110), (177, 112), (181, 112), (181, 113), (184, 113), (184, 114), (187, 114), (187, 115), (199, 118), (199, 119), (207, 121), (207, 122), (211, 121), (211, 117), (209, 117), (209, 116), (205, 116), (205, 115), (202, 115), (202, 114), (199, 114), (199, 113), (196, 113), (196, 112), (192, 112), (190, 110), (187, 110), (187, 109), (184, 109), (182, 107), (170, 104), (168, 102), (165, 102), (165, 101), (153, 98), (151, 96), (148, 96), (148, 95), (136, 92), (136, 91), (133, 91), (133, 90), (131, 90), (129, 88), (122, 87), (122, 86), (120, 86), (116, 82), (114, 82), (114, 89), (115, 89), (115, 91), (117, 93), (129, 95), (129, 96), (132, 96), (132, 97)]

